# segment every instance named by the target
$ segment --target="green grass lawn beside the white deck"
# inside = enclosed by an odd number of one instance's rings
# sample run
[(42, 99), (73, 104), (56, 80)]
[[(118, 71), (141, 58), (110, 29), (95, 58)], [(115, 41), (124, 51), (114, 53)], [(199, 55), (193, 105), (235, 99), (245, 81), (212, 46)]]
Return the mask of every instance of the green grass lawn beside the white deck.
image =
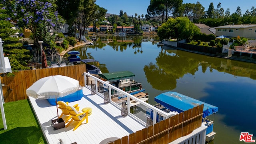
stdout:
[(4, 104), (7, 130), (0, 111), (0, 144), (47, 144), (29, 100)]

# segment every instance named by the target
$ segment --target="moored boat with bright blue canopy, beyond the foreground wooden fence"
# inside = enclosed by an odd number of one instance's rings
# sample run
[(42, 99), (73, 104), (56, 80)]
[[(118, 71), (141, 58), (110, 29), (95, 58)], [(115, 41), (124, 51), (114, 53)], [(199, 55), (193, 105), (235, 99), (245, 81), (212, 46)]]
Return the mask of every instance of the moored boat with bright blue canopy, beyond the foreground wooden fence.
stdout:
[(208, 126), (206, 129), (206, 141), (209, 142), (214, 139), (214, 135), (216, 134), (213, 131), (214, 121), (209, 120), (206, 117), (218, 112), (217, 106), (196, 100), (178, 92), (165, 92), (156, 96), (154, 99), (157, 103), (160, 104), (155, 105), (156, 107), (160, 108), (161, 110), (168, 110), (168, 112), (173, 111), (181, 113), (204, 104), (202, 124)]

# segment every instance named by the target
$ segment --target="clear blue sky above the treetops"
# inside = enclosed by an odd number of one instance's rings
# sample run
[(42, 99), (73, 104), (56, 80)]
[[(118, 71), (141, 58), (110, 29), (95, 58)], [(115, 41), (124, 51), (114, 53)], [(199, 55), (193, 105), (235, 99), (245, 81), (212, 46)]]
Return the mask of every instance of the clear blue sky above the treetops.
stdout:
[[(242, 10), (242, 14), (252, 8), (252, 6), (256, 7), (256, 0), (183, 0), (183, 3), (196, 3), (200, 2), (202, 6), (204, 6), (205, 10), (209, 8), (210, 2), (213, 2), (214, 8), (217, 8), (218, 3), (221, 3), (221, 7), (224, 8), (224, 11), (227, 8), (230, 9), (230, 14), (236, 11), (236, 8), (240, 6)], [(150, 0), (96, 0), (96, 4), (100, 7), (108, 10), (107, 13), (110, 14), (118, 14), (120, 10), (126, 12), (128, 16), (134, 15), (137, 13), (138, 15), (147, 14), (147, 8), (150, 4)]]

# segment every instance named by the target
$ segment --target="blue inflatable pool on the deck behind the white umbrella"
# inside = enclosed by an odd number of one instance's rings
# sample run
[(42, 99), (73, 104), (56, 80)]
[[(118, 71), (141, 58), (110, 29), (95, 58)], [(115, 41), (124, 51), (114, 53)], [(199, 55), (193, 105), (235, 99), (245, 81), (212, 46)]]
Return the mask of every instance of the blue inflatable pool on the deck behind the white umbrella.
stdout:
[[(84, 96), (83, 94), (83, 88), (82, 86), (79, 85), (78, 89), (76, 92), (72, 93), (72, 94), (69, 94), (67, 96), (64, 96), (64, 97), (60, 97), (60, 98), (57, 98), (57, 102), (59, 100), (62, 100), (64, 102), (74, 102), (74, 101), (77, 101), (77, 100), (81, 100), (81, 98)], [(56, 99), (55, 98), (49, 98), (47, 99), (48, 102), (52, 105), (52, 106), (56, 106)]]

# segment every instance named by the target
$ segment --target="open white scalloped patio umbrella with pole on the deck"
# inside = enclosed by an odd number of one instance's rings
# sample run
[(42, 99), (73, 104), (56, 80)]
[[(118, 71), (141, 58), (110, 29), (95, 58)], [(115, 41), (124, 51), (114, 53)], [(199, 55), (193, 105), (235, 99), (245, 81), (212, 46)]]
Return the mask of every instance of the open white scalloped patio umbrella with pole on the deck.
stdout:
[(32, 84), (32, 86), (26, 90), (26, 94), (38, 99), (55, 98), (59, 120), (57, 98), (76, 92), (78, 87), (79, 82), (74, 78), (62, 75), (47, 76)]

